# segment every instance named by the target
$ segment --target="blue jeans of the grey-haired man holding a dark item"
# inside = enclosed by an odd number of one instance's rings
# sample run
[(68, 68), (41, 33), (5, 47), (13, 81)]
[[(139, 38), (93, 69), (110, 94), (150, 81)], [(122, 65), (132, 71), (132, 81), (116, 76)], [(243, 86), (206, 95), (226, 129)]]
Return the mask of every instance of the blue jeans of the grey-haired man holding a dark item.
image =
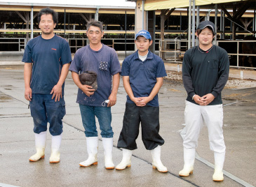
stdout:
[(95, 116), (100, 124), (102, 137), (113, 137), (111, 107), (92, 107), (79, 104), (86, 137), (97, 137)]

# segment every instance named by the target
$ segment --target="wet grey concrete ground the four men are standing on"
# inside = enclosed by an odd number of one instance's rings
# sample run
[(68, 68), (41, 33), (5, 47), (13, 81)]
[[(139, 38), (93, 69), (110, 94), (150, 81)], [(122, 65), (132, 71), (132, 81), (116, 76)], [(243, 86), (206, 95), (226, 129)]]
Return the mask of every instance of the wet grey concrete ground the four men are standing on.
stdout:
[[(174, 72), (171, 72), (175, 74)], [(180, 130), (184, 126), (184, 100), (187, 93), (180, 80), (166, 79), (159, 92), (161, 147), (166, 174), (153, 170), (150, 152), (144, 149), (141, 135), (133, 151), (132, 165), (126, 170), (106, 170), (100, 137), (98, 165), (79, 167), (87, 158), (77, 87), (69, 73), (65, 84), (67, 114), (63, 119), (61, 161), (50, 164), (48, 133), (46, 157), (29, 162), (35, 152), (33, 121), (24, 98), (23, 70), (20, 66), (0, 66), (0, 186), (256, 186), (256, 88), (224, 89), (224, 140), (227, 146), (224, 181), (214, 182), (213, 152), (204, 126), (199, 137), (194, 174), (179, 177), (183, 167)], [(126, 92), (120, 84), (118, 101), (112, 107), (114, 130), (113, 160), (117, 165), (122, 152), (116, 148), (122, 127)], [(97, 128), (98, 124), (97, 124)], [(100, 135), (100, 131), (99, 131)]]

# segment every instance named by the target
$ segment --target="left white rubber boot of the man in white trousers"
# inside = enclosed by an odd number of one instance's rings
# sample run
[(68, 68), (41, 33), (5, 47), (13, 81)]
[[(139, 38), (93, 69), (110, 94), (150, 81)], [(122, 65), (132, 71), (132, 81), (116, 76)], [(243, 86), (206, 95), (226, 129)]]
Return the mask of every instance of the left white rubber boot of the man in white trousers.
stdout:
[(196, 149), (187, 149), (184, 147), (184, 167), (183, 170), (179, 172), (179, 175), (182, 177), (188, 177), (189, 174), (193, 173), (194, 162), (196, 156)]

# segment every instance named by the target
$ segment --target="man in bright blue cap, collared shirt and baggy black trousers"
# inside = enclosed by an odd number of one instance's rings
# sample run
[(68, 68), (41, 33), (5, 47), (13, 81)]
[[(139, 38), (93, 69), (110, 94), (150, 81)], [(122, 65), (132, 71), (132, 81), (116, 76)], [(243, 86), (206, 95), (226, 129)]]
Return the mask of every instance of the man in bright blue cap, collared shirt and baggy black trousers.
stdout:
[(123, 159), (116, 170), (130, 167), (131, 156), (137, 149), (136, 139), (142, 125), (142, 141), (151, 151), (152, 165), (159, 172), (168, 172), (161, 162), (161, 145), (164, 140), (159, 135), (159, 100), (157, 93), (163, 85), (166, 69), (160, 57), (149, 51), (152, 44), (149, 31), (139, 31), (135, 36), (137, 52), (123, 61), (121, 75), (126, 89), (126, 112), (117, 147), (123, 148)]

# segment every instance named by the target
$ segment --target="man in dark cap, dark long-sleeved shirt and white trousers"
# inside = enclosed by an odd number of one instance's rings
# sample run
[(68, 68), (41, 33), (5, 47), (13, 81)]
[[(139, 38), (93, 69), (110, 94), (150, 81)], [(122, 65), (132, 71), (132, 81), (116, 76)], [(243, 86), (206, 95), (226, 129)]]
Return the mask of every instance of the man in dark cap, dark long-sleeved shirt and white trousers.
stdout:
[(184, 167), (180, 176), (193, 173), (196, 147), (201, 126), (206, 124), (210, 149), (214, 151), (213, 181), (223, 181), (225, 144), (223, 137), (223, 108), (221, 91), (229, 78), (229, 57), (221, 47), (213, 45), (216, 34), (213, 22), (198, 24), (199, 45), (184, 54), (182, 79), (187, 91), (184, 112)]

